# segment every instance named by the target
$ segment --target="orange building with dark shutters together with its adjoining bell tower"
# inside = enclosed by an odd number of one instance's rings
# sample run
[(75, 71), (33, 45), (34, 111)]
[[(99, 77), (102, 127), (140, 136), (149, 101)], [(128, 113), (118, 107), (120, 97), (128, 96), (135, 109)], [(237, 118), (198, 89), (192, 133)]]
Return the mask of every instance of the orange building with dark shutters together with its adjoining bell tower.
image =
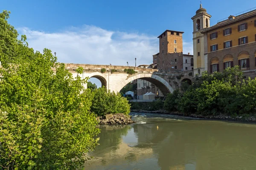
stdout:
[[(194, 75), (239, 65), (246, 78), (256, 77), (256, 9), (237, 16), (230, 15), (211, 27), (209, 17), (202, 6), (192, 17)], [(200, 22), (207, 19), (208, 23), (199, 23), (198, 19)]]

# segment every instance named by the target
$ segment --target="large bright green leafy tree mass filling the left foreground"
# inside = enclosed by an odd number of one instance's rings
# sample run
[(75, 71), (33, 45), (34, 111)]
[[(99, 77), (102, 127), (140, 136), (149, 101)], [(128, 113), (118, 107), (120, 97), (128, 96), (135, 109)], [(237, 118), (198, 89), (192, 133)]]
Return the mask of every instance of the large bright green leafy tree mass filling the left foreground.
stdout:
[(48, 49), (34, 53), (26, 36), (17, 40), (8, 17), (0, 14), (1, 168), (83, 169), (99, 133), (87, 79), (74, 79)]

